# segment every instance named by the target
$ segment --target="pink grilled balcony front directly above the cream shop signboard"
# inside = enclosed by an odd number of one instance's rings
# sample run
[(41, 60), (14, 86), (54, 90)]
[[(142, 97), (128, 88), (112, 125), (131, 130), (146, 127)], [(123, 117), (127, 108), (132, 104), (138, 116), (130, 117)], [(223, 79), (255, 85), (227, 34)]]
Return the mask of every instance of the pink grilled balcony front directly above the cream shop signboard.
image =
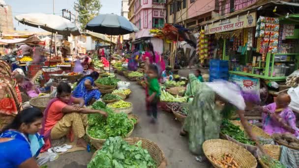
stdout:
[(257, 0), (219, 0), (219, 14), (223, 16), (235, 12), (256, 1)]

